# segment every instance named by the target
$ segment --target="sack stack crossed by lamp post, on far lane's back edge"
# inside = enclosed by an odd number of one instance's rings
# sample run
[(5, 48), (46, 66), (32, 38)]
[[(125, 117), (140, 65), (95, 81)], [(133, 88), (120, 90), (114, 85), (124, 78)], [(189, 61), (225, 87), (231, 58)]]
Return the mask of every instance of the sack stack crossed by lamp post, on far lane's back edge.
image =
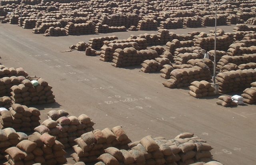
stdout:
[[(202, 18), (202, 26), (215, 26), (215, 16), (214, 15), (206, 15)], [(217, 26), (226, 25), (226, 16), (224, 14), (217, 14)]]

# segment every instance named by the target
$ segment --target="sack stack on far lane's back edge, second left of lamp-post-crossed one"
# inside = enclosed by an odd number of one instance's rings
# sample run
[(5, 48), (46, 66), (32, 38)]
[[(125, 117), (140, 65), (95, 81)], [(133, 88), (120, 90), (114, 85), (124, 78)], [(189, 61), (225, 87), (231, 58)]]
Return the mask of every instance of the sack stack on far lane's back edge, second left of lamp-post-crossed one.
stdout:
[(183, 27), (182, 20), (180, 18), (167, 18), (164, 21), (160, 21), (160, 29), (180, 29)]

